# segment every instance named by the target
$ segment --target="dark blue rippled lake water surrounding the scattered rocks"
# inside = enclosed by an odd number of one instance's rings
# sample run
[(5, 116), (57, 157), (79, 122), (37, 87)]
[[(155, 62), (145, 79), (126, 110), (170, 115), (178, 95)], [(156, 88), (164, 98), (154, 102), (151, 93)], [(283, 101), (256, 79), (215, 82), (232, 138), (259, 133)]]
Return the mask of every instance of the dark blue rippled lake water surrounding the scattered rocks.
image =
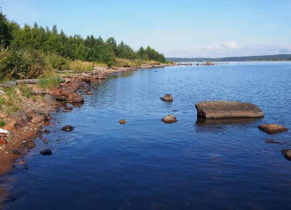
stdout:
[[(291, 129), (290, 78), (291, 62), (247, 62), (139, 70), (93, 83), (83, 105), (53, 115), (47, 129), (57, 132), (44, 135), (48, 144), (37, 140), (25, 157), (29, 169), (18, 165), (0, 178), (9, 194), (4, 210), (290, 209), (291, 162), (281, 149), (291, 148), (291, 131), (257, 128)], [(173, 103), (160, 99), (166, 93)], [(206, 100), (254, 103), (265, 117), (197, 121), (195, 103)], [(163, 123), (168, 114), (178, 123)], [(67, 124), (74, 131), (60, 131)], [(53, 154), (41, 156), (45, 148)]]

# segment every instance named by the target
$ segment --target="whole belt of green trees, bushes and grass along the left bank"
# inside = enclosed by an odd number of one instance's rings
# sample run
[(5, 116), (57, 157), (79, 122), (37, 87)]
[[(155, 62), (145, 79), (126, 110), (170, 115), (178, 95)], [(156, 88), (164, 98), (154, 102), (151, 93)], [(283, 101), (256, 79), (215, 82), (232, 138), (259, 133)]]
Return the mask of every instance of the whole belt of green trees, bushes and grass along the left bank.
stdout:
[[(0, 78), (36, 77), (43, 69), (70, 69), (72, 62), (106, 66), (141, 65), (149, 61), (167, 63), (162, 53), (150, 46), (134, 51), (113, 37), (66, 35), (56, 25), (49, 27), (10, 21), (0, 8)], [(91, 64), (90, 64), (91, 66)]]

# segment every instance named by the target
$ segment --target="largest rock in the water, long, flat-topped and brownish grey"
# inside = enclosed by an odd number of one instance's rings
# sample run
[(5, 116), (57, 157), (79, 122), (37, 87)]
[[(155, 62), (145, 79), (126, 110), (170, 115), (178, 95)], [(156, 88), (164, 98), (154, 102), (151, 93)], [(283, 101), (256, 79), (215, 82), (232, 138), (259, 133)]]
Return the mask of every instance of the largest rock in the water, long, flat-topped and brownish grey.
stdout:
[(251, 103), (237, 101), (204, 101), (195, 104), (197, 115), (206, 119), (262, 118), (262, 110)]

